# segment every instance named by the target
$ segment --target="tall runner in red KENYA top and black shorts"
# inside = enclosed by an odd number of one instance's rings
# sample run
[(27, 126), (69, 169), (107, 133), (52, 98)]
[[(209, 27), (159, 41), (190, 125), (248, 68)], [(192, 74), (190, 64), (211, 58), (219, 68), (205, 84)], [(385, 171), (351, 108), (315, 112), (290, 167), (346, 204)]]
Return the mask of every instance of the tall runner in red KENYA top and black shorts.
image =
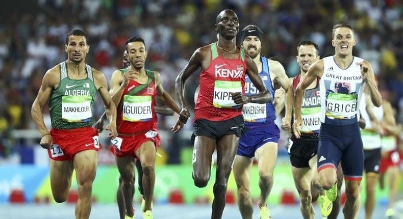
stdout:
[[(217, 16), (215, 31), (218, 41), (198, 48), (175, 81), (175, 90), (182, 107), (180, 119), (190, 116), (184, 97), (186, 79), (197, 69), (200, 92), (194, 118), (193, 180), (205, 187), (210, 179), (211, 156), (217, 149), (217, 173), (211, 218), (221, 218), (231, 166), (243, 130), (242, 105), (266, 103), (272, 97), (259, 76), (256, 64), (236, 45), (238, 16), (226, 9)], [(254, 96), (244, 94), (245, 72), (260, 91)]]

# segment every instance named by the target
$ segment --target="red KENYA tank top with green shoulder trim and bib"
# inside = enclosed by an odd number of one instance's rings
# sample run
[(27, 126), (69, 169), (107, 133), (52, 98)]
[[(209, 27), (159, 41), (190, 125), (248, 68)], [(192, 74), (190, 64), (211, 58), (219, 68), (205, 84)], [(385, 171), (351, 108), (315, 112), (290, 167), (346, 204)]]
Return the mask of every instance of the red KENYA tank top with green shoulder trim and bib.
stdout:
[(220, 56), (217, 44), (210, 44), (211, 63), (200, 73), (200, 91), (194, 108), (194, 121), (228, 120), (242, 115), (242, 105), (236, 105), (229, 92), (245, 93), (244, 51), (238, 59), (224, 59)]

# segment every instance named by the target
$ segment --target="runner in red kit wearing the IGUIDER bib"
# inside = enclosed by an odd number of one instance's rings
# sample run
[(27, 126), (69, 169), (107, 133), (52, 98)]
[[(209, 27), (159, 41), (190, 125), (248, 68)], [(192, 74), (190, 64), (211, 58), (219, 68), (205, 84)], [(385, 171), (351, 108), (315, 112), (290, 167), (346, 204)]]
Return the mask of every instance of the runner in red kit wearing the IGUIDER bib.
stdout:
[[(112, 100), (117, 105), (118, 137), (112, 141), (115, 149), (116, 165), (122, 179), (126, 216), (133, 218), (134, 158), (141, 161), (144, 187), (143, 218), (154, 218), (151, 203), (155, 184), (155, 155), (157, 117), (154, 110), (155, 97), (160, 97), (174, 112), (180, 108), (161, 85), (158, 72), (144, 68), (147, 51), (142, 38), (132, 37), (126, 41), (129, 68), (116, 70), (111, 79)], [(178, 120), (171, 130), (176, 132), (183, 127)]]

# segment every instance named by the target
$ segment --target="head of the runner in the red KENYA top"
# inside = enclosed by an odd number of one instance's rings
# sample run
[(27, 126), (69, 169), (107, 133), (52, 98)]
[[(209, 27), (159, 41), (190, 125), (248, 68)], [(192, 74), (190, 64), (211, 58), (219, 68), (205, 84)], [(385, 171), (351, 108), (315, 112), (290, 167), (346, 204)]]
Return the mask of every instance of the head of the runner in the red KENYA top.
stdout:
[(235, 38), (239, 31), (238, 16), (232, 10), (224, 10), (217, 16), (215, 31), (225, 39)]

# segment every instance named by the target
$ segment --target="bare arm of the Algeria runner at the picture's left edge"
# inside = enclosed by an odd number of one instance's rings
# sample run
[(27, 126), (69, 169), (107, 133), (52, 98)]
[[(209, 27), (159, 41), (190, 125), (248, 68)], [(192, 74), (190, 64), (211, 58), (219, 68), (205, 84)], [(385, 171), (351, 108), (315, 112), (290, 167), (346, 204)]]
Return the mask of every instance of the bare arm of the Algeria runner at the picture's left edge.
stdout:
[(53, 146), (53, 139), (43, 121), (42, 108), (49, 100), (53, 89), (59, 83), (59, 67), (48, 70), (43, 76), (42, 85), (31, 107), (32, 119), (34, 120), (36, 127), (42, 136), (40, 145), (42, 148), (45, 149), (51, 148)]

